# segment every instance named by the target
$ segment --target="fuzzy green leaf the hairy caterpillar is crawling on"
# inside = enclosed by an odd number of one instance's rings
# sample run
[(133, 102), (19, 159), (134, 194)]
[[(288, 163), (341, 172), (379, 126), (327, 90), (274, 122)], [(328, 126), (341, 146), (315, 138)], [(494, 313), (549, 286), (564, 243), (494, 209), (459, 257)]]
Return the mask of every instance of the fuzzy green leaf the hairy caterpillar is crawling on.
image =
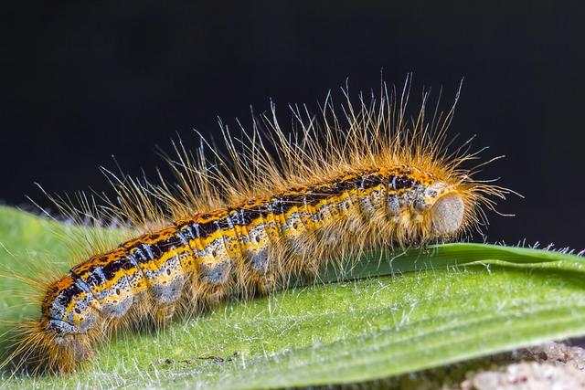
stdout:
[[(66, 271), (68, 251), (57, 236), (75, 234), (76, 228), (0, 207), (5, 246), (0, 261), (23, 273), (31, 266), (49, 268), (46, 264)], [(346, 268), (345, 281), (328, 283), (339, 278), (338, 269), (328, 269), (325, 283), (269, 298), (232, 300), (165, 330), (119, 334), (76, 374), (10, 377), (5, 371), (3, 385), (349, 384), (585, 334), (583, 258), (479, 244), (411, 249), (394, 256), (398, 258), (367, 254), (351, 271)], [(22, 298), (13, 292), (22, 288), (18, 280), (4, 276), (2, 320), (37, 316), (37, 308), (22, 307)], [(0, 322), (0, 333), (7, 328)], [(0, 353), (8, 343), (0, 343)], [(230, 358), (233, 353), (239, 355)]]

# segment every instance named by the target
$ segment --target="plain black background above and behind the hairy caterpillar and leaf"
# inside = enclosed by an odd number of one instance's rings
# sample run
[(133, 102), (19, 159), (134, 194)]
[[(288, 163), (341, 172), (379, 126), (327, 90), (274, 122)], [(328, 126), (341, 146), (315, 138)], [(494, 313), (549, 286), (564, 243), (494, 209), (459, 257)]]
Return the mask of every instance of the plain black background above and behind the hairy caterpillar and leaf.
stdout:
[[(98, 166), (154, 176), (179, 133), (250, 124), (276, 102), (317, 110), (327, 90), (443, 87), (464, 77), (452, 134), (478, 134), (484, 177), (526, 196), (488, 240), (584, 248), (583, 6), (561, 2), (51, 2), (2, 9), (0, 199), (106, 189)], [(414, 104), (413, 104), (414, 106)]]

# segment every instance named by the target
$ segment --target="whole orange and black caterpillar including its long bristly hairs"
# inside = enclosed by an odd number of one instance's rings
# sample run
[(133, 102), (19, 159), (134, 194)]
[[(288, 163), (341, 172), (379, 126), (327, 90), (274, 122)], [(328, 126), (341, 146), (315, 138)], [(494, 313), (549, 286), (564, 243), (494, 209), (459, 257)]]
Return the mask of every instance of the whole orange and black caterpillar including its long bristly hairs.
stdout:
[(37, 282), (40, 316), (20, 325), (8, 360), (70, 373), (116, 330), (314, 280), (328, 263), (369, 248), (464, 237), (486, 221), (484, 209), (495, 211), (494, 198), (505, 198), (504, 187), (473, 179), (484, 163), (463, 166), (482, 150), (463, 142), (450, 151), (459, 90), (430, 120), (425, 91), (407, 117), (410, 79), (402, 90), (382, 82), (357, 103), (342, 90), (343, 115), (328, 94), (320, 121), (292, 106), (289, 132), (273, 103), (239, 138), (220, 123), (226, 153), (205, 140), (196, 153), (174, 142), (176, 156), (165, 159), (176, 184), (105, 170), (116, 195), (103, 206), (88, 202), (80, 213), (54, 197), (77, 217), (122, 219), (129, 237), (115, 248), (94, 245), (66, 274)]

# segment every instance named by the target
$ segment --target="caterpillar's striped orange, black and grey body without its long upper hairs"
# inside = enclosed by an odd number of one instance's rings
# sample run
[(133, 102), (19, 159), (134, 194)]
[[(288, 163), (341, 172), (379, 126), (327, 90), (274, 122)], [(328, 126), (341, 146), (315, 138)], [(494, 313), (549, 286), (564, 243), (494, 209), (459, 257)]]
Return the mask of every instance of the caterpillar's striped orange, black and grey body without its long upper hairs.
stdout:
[(37, 322), (46, 361), (67, 372), (90, 360), (112, 321), (137, 321), (144, 312), (168, 321), (185, 302), (213, 306), (229, 295), (274, 290), (300, 270), (314, 276), (322, 254), (345, 250), (342, 238), (363, 247), (376, 245), (364, 232), (378, 231), (385, 242), (457, 234), (460, 187), (408, 165), (372, 168), (199, 213), (122, 243), (48, 288)]

